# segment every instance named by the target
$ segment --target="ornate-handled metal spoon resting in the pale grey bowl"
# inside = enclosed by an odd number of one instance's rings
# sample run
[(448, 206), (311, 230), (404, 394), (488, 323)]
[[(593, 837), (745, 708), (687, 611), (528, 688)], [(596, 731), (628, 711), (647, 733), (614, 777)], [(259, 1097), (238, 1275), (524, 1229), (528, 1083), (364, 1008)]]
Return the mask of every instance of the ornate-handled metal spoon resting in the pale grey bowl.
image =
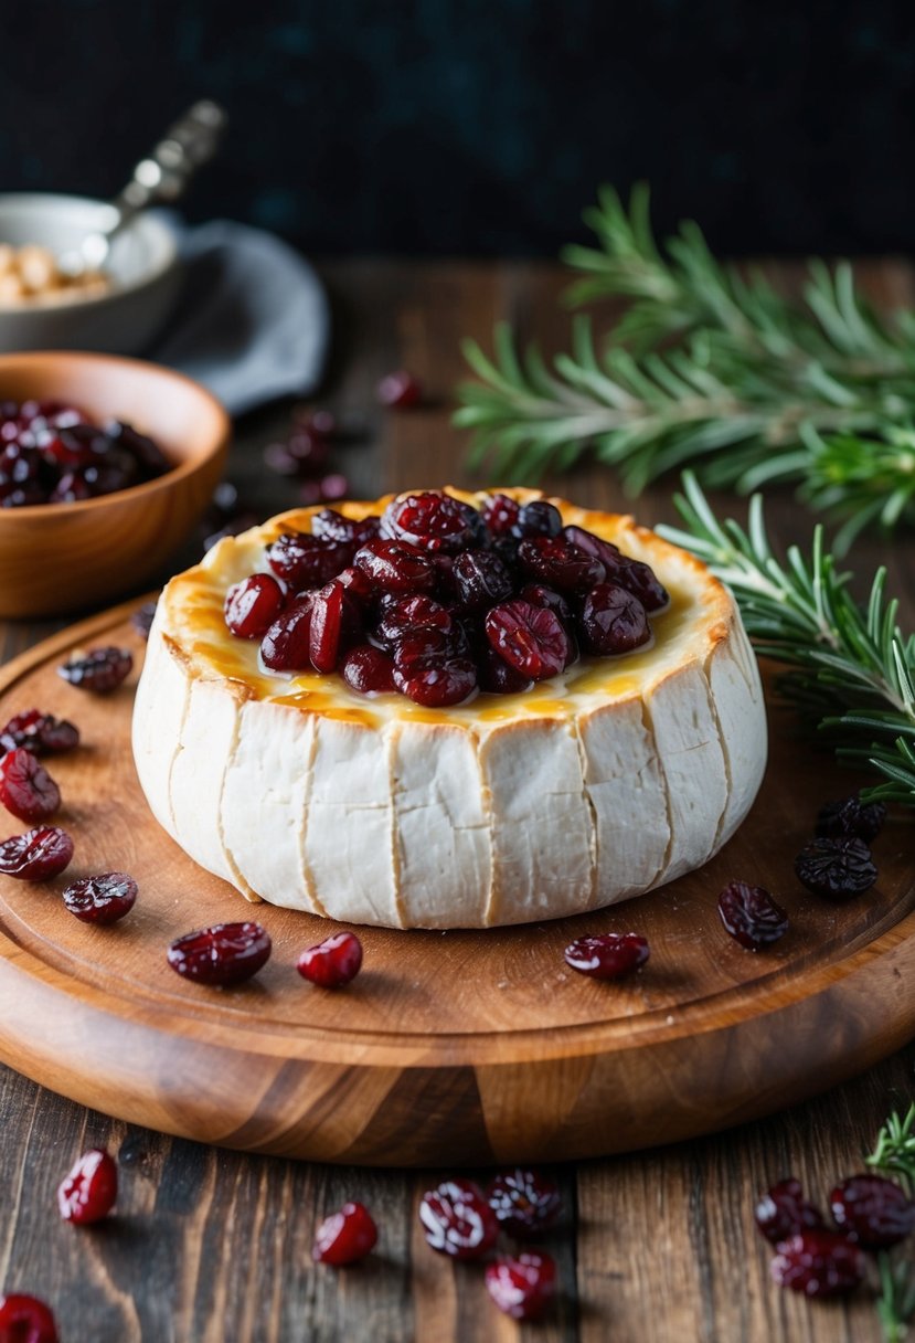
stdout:
[(110, 228), (86, 234), (78, 247), (64, 252), (58, 265), (67, 275), (103, 270), (111, 243), (130, 220), (149, 205), (170, 204), (184, 191), (197, 168), (216, 153), (228, 117), (223, 107), (208, 98), (196, 102), (180, 117), (152, 153), (133, 171), (127, 185), (111, 205), (117, 216)]

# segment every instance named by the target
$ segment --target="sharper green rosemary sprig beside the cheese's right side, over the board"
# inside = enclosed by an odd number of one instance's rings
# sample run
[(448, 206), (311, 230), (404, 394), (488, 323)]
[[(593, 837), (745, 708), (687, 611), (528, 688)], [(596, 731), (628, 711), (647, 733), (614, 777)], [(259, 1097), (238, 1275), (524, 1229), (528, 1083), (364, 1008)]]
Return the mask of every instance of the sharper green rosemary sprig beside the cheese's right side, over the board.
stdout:
[(859, 606), (851, 575), (837, 569), (821, 526), (809, 555), (793, 545), (779, 563), (759, 494), (750, 500), (746, 530), (733, 518), (716, 520), (690, 471), (676, 506), (686, 530), (659, 532), (729, 584), (757, 651), (789, 669), (782, 693), (830, 735), (840, 756), (876, 771), (881, 782), (867, 790), (868, 798), (915, 807), (915, 634), (899, 627), (898, 603), (885, 596), (885, 569)]

